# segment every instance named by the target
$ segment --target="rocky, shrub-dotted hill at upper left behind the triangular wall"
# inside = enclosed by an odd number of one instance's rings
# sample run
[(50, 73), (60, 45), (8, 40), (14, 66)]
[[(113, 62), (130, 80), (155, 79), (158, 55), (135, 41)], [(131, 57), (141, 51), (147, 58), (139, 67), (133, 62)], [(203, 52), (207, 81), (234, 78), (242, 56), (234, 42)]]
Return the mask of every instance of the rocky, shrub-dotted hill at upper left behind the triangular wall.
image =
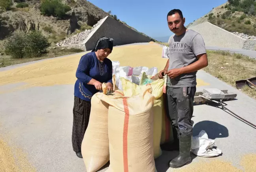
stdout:
[[(1, 1), (5, 0), (0, 0), (0, 3)], [(87, 0), (59, 0), (70, 8), (62, 18), (42, 15), (40, 11), (42, 0), (12, 1), (10, 9), (0, 8), (0, 40), (17, 30), (24, 32), (41, 30), (55, 45), (66, 37), (89, 30), (107, 15), (128, 26), (125, 22), (117, 19), (116, 15), (105, 12)], [(20, 7), (18, 2), (25, 3), (26, 6)]]

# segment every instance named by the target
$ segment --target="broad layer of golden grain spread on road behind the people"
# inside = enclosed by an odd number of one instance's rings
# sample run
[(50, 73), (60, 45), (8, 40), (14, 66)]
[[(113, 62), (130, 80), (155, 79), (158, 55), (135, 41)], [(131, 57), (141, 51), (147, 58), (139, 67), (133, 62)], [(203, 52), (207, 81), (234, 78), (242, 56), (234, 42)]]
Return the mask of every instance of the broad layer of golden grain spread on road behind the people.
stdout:
[[(156, 44), (129, 45), (114, 47), (109, 55), (112, 61), (119, 61), (120, 66), (147, 66), (162, 70), (168, 59), (161, 58), (162, 47)], [(22, 86), (7, 87), (0, 93), (34, 86), (53, 86), (75, 83), (75, 72), (81, 56), (85, 53), (70, 55), (62, 58), (47, 59), (34, 64), (24, 65), (15, 69), (0, 72), (0, 86), (24, 82)], [(198, 79), (198, 86), (207, 83)]]

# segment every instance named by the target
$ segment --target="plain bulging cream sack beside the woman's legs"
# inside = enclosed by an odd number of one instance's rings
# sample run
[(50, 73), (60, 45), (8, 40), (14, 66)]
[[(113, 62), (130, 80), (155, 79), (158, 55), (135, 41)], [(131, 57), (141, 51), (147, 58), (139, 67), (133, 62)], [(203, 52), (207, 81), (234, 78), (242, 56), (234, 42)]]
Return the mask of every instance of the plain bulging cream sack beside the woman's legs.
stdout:
[[(91, 99), (91, 111), (87, 130), (81, 145), (81, 153), (87, 172), (96, 172), (109, 161), (108, 108), (109, 104), (96, 95)], [(112, 97), (123, 95), (117, 90)]]

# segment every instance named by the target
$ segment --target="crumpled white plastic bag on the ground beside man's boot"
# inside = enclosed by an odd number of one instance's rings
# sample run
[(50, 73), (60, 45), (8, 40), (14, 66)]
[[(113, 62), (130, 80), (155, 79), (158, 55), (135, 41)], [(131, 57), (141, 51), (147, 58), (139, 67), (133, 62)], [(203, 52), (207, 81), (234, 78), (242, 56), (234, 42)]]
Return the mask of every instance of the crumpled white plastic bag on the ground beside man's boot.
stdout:
[(215, 157), (222, 153), (218, 148), (213, 148), (215, 141), (208, 138), (202, 130), (198, 136), (192, 137), (191, 152), (200, 157)]

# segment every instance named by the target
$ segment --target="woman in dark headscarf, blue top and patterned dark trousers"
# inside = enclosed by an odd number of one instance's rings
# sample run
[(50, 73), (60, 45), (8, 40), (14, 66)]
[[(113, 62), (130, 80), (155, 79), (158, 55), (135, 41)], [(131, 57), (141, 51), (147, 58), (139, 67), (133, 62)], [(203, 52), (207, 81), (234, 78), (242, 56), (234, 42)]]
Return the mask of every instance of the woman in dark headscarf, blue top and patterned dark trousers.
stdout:
[(83, 158), (81, 144), (88, 126), (92, 96), (102, 90), (102, 83), (107, 83), (107, 90), (113, 90), (112, 62), (107, 56), (112, 52), (113, 39), (100, 38), (92, 52), (81, 57), (76, 71), (72, 146), (77, 157)]

